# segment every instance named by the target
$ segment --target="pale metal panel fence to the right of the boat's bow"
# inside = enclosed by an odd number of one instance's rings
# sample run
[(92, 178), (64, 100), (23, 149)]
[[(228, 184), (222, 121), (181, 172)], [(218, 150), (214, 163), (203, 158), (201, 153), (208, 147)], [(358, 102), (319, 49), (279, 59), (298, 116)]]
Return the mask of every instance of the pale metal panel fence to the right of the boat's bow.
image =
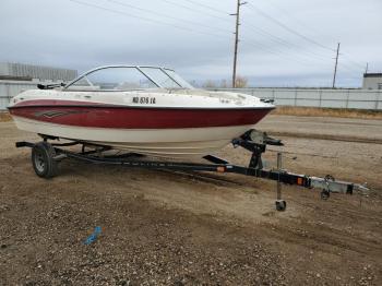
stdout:
[(210, 91), (250, 94), (273, 99), (280, 106), (354, 108), (382, 110), (380, 90), (306, 90), (306, 88), (208, 88)]

